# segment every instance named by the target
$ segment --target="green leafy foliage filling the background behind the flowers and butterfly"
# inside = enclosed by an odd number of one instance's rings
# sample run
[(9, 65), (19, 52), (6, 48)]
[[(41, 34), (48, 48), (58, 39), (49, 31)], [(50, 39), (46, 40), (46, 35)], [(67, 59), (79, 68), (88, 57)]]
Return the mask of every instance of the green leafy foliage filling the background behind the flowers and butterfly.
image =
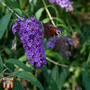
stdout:
[[(42, 0), (3, 2), (19, 16), (28, 18), (33, 15), (37, 20), (51, 23)], [(72, 32), (78, 33), (80, 47), (70, 47), (72, 56), (67, 60), (59, 52), (46, 49), (48, 41), (44, 39), (47, 66), (42, 72), (35, 71), (27, 61), (18, 34), (17, 49), (11, 50), (14, 39), (12, 25), (17, 17), (0, 3), (0, 77), (15, 76), (13, 90), (90, 90), (90, 1), (71, 0), (73, 13), (66, 12), (57, 4), (51, 5), (48, 0), (45, 3), (55, 25), (62, 29), (64, 35), (72, 38)], [(20, 82), (22, 79), (26, 80), (27, 87)]]

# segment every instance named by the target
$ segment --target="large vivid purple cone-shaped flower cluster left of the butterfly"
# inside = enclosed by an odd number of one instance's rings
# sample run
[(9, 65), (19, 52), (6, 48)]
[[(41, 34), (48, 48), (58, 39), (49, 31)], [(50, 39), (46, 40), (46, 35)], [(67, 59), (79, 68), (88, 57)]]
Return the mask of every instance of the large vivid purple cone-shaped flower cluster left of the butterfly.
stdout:
[(33, 16), (19, 18), (12, 27), (12, 32), (20, 35), (21, 43), (28, 56), (28, 61), (35, 69), (43, 69), (47, 64), (43, 47), (42, 24)]

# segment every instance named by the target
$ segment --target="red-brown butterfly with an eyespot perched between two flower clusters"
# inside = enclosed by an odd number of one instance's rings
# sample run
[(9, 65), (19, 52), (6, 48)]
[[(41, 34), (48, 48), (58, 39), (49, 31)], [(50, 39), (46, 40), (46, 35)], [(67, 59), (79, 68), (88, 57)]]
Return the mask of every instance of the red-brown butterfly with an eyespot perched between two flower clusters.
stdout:
[(56, 27), (49, 23), (43, 23), (44, 37), (48, 40), (49, 37), (56, 36), (62, 33), (62, 30), (58, 30)]

